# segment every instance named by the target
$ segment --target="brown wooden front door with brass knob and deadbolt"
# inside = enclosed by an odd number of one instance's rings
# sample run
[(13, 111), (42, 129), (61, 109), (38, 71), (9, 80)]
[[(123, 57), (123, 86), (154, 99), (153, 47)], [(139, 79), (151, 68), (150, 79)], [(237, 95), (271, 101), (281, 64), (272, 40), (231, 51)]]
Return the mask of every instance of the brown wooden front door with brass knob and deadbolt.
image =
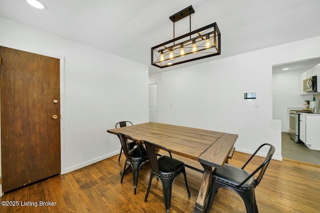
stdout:
[(0, 57), (2, 192), (7, 192), (61, 171), (60, 62), (2, 46)]

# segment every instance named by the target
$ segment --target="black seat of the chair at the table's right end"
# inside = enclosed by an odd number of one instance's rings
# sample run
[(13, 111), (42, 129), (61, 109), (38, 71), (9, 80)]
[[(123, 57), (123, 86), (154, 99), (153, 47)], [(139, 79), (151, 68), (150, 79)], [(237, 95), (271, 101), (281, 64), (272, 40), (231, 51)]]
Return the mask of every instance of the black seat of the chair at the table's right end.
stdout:
[[(218, 181), (226, 182), (228, 185), (233, 187), (238, 186), (250, 176), (250, 173), (245, 172), (244, 170), (234, 167), (229, 164), (224, 164), (223, 167), (219, 169), (214, 169), (213, 178), (216, 178)], [(251, 177), (247, 182), (245, 182), (241, 188), (252, 188), (254, 187), (254, 177)]]

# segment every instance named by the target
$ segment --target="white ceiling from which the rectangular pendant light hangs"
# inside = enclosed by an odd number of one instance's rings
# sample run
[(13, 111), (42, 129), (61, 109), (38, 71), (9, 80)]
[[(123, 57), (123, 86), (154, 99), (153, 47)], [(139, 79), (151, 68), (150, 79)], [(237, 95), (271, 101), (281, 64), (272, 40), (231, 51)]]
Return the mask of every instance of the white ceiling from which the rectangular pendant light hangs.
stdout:
[[(0, 16), (149, 66), (149, 74), (320, 35), (319, 0), (0, 0)], [(192, 5), (191, 30), (216, 22), (221, 55), (168, 68), (150, 65), (150, 48), (173, 38), (169, 16)], [(175, 23), (175, 37), (189, 20)]]

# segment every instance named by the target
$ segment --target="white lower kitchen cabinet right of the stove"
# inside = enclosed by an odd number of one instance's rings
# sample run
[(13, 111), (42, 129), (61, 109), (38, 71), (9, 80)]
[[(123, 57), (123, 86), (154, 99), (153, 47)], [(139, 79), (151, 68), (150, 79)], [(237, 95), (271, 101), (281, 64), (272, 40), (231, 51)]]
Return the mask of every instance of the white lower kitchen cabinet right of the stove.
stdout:
[(300, 114), (299, 138), (311, 150), (320, 151), (320, 114)]

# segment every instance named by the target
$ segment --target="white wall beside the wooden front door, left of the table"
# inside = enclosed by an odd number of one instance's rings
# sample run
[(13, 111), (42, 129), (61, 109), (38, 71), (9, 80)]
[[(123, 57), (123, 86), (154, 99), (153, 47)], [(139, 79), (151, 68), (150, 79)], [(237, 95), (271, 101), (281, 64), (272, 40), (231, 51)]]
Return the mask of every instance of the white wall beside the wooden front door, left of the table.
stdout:
[(2, 46), (64, 57), (61, 173), (118, 154), (116, 122), (148, 121), (147, 66), (3, 17), (0, 29)]

